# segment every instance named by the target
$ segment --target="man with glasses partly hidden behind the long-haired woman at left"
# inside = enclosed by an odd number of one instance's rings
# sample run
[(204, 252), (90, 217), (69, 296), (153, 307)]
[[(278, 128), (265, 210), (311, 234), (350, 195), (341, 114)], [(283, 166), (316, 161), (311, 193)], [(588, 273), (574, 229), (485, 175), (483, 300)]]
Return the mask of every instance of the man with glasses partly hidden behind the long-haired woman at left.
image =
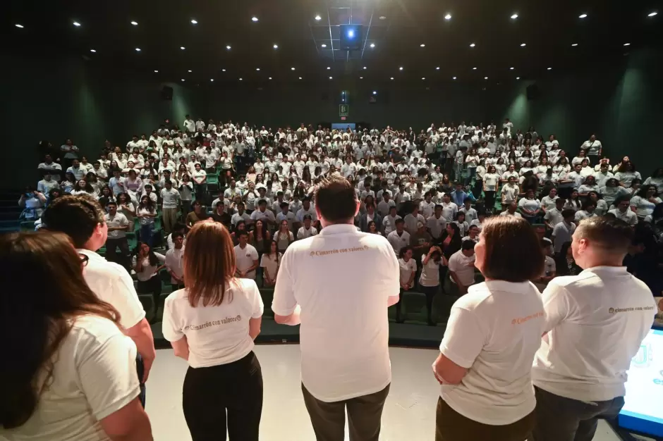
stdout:
[(42, 223), (44, 228), (50, 231), (63, 232), (71, 237), (78, 252), (87, 257), (83, 270), (85, 282), (99, 299), (108, 302), (120, 313), (120, 325), (136, 344), (140, 354), (137, 360), (141, 384), (140, 401), (145, 406), (145, 381), (157, 356), (154, 351), (154, 337), (129, 273), (117, 263), (111, 263), (95, 253), (106, 243), (108, 237), (104, 210), (99, 206), (99, 202), (90, 196), (63, 196), (44, 211)]

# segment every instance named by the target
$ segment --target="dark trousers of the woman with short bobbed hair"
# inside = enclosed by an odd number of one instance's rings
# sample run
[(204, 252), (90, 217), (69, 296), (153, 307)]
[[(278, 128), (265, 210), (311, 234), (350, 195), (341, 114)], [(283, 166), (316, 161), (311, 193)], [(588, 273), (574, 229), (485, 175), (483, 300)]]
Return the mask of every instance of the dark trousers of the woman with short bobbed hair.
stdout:
[(451, 409), (442, 397), (437, 399), (435, 441), (525, 441), (533, 426), (534, 412), (515, 423), (492, 426), (470, 420)]

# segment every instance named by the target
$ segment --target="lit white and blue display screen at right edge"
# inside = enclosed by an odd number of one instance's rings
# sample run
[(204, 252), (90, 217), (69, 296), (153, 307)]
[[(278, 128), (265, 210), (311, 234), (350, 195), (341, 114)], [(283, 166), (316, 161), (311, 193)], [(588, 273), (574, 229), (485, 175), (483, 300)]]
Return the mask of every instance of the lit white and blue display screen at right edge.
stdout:
[(663, 436), (663, 330), (652, 329), (631, 360), (619, 426)]

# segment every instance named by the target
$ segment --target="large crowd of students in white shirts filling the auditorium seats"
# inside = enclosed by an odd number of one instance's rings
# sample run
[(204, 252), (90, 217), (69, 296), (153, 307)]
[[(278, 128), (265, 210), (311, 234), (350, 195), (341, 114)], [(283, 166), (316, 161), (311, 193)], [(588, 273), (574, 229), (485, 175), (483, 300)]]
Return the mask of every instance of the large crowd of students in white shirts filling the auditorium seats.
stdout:
[[(130, 255), (141, 247), (159, 247), (166, 238), (170, 249), (173, 232), (186, 234), (213, 218), (231, 230), (243, 257), (238, 271), (249, 278), (260, 273), (264, 286), (273, 286), (285, 249), (321, 230), (311, 188), (340, 173), (361, 203), (355, 225), (387, 237), (401, 259), (404, 291), (432, 293), (441, 286), (466, 292), (470, 271), (461, 271), (461, 280), (456, 264), (449, 266), (451, 257), (463, 251), (465, 240), (476, 242), (486, 218), (498, 215), (545, 226), (541, 238), (553, 243), (538, 280), (543, 288), (556, 273), (576, 271), (562, 254), (576, 223), (604, 214), (637, 230), (629, 268), (652, 292), (663, 290), (657, 278), (663, 263), (663, 168), (643, 181), (628, 156), (610, 158), (595, 135), (577, 146), (560, 146), (555, 135), (545, 140), (534, 128), (516, 130), (508, 119), (499, 128), (463, 121), (419, 133), (304, 124), (272, 130), (190, 117), (181, 127), (166, 123), (149, 136), (133, 136), (125, 147), (106, 142), (91, 162), (68, 139), (39, 163), (37, 190), (26, 189), (19, 201), (24, 217), (39, 218), (62, 194), (90, 194), (108, 212), (107, 257), (129, 271), (136, 271)], [(157, 221), (162, 234), (155, 236)], [(134, 230), (142, 244), (131, 251), (126, 236)], [(471, 259), (469, 249), (464, 253)], [(440, 277), (432, 279), (438, 266)], [(181, 280), (181, 268), (166, 267), (174, 282)], [(156, 282), (143, 288), (158, 299)]]

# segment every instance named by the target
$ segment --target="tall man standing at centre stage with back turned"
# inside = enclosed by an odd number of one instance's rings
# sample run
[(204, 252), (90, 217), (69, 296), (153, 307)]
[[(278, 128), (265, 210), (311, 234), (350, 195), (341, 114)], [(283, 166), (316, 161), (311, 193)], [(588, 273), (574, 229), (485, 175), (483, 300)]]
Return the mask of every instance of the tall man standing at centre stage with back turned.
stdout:
[(323, 180), (322, 231), (286, 249), (274, 290), (276, 323), (301, 323), (302, 390), (318, 440), (343, 439), (346, 405), (351, 439), (377, 440), (391, 383), (387, 308), (399, 301), (399, 264), (384, 237), (357, 231), (359, 206), (348, 180)]

